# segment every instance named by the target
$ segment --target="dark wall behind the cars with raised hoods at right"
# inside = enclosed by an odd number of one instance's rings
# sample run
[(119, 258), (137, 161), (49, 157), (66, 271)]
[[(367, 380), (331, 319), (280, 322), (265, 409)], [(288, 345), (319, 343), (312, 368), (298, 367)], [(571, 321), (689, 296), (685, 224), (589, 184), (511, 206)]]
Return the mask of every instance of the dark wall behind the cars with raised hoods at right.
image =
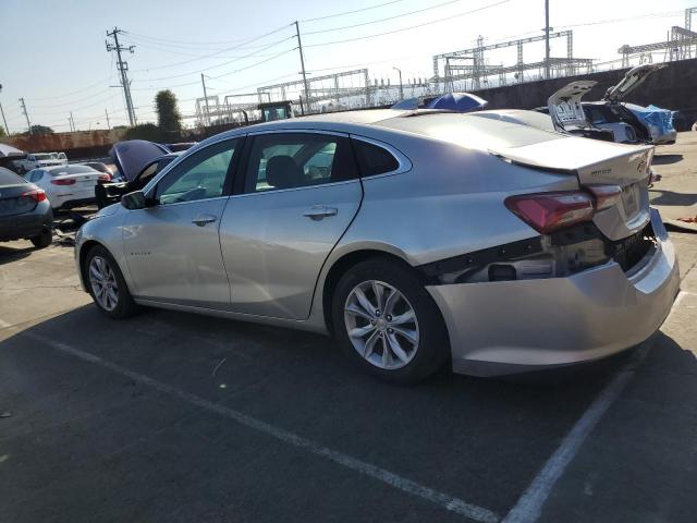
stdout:
[[(599, 100), (609, 87), (616, 84), (627, 69), (602, 71), (564, 78), (543, 80), (525, 84), (494, 87), (477, 92), (489, 100), (488, 109), (534, 109), (547, 106), (547, 98), (557, 89), (576, 80), (595, 80), (598, 85), (584, 96), (584, 100)], [(655, 105), (664, 109), (680, 110), (690, 121), (697, 120), (697, 59), (670, 62), (657, 71), (632, 93), (626, 101), (640, 106)]]

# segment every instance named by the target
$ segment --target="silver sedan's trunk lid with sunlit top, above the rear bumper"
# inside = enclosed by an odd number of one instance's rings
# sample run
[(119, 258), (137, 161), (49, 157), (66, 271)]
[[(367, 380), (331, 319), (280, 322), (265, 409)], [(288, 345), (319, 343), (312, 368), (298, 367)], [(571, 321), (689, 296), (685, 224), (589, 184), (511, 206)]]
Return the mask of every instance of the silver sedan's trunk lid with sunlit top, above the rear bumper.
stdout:
[(492, 153), (516, 165), (567, 172), (577, 178), (580, 187), (621, 187), (617, 202), (594, 217), (594, 223), (610, 240), (629, 236), (649, 221), (648, 180), (653, 146), (567, 137)]

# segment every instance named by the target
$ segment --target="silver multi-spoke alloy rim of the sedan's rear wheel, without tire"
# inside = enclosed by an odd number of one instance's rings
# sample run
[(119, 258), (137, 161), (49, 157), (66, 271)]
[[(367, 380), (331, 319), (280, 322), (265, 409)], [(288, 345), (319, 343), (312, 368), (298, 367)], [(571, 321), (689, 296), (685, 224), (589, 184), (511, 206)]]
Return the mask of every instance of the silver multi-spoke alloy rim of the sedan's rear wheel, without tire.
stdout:
[(378, 368), (402, 368), (418, 350), (414, 307), (389, 283), (368, 280), (354, 287), (344, 305), (344, 324), (354, 349)]

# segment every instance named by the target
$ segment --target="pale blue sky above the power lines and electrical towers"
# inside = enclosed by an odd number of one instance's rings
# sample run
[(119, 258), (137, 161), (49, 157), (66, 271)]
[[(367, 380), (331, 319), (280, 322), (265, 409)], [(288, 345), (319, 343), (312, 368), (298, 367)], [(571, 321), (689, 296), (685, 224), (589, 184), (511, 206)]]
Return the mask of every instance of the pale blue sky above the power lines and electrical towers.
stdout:
[[(624, 44), (664, 40), (671, 26), (684, 25), (684, 10), (692, 7), (697, 0), (550, 0), (550, 25), (573, 29), (575, 58), (610, 61)], [(78, 130), (106, 129), (105, 111), (112, 126), (127, 123), (115, 53), (105, 47), (114, 27), (126, 32), (122, 45), (135, 46), (123, 58), (138, 122), (146, 122), (156, 121), (152, 100), (164, 88), (192, 114), (203, 96), (201, 73), (208, 95), (221, 101), (299, 80), (295, 21), (309, 77), (368, 68), (371, 78), (396, 84), (393, 68), (405, 82), (432, 76), (433, 54), (474, 47), (479, 35), (492, 44), (541, 34), (545, 2), (0, 0), (0, 104), (10, 131), (26, 131), (23, 97), (32, 124), (66, 132), (71, 112)], [(543, 45), (535, 44), (525, 47), (524, 58), (538, 61), (543, 53)], [(565, 41), (551, 40), (551, 56), (565, 54)], [(515, 47), (486, 59), (513, 64)]]

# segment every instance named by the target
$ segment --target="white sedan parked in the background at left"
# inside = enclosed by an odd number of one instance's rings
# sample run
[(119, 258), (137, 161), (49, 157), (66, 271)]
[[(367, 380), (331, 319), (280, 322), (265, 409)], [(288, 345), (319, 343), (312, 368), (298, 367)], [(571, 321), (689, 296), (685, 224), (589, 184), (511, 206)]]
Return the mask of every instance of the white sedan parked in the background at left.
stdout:
[(111, 180), (109, 174), (87, 166), (57, 166), (34, 169), (24, 177), (46, 192), (53, 209), (95, 203), (95, 186)]

